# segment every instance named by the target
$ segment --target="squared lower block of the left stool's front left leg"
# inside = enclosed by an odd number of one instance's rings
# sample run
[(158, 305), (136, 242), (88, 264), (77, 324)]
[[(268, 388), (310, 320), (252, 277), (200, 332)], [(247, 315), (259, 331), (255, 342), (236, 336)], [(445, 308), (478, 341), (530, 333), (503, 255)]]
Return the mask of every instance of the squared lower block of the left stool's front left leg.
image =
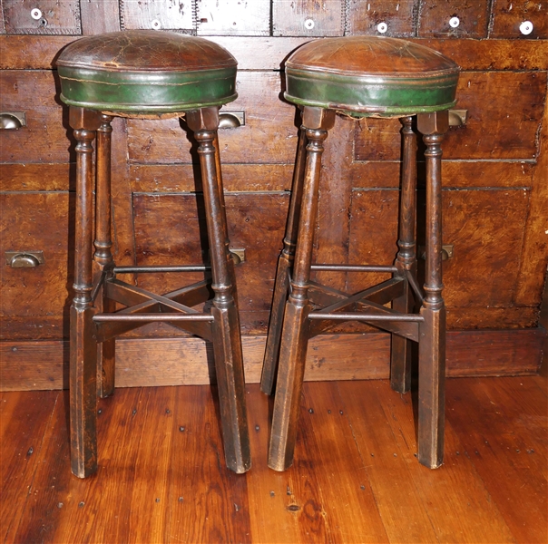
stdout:
[(86, 478), (97, 471), (97, 348), (93, 308), (71, 307), (71, 468)]

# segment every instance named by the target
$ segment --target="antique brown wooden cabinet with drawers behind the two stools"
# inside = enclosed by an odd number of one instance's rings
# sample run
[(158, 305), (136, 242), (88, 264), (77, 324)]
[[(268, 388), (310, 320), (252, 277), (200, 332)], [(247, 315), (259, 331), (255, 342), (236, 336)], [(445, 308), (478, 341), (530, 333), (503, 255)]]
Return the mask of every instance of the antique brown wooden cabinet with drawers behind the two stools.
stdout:
[[(462, 66), (461, 112), (444, 145), (444, 244), (452, 247), (444, 265), (448, 374), (536, 370), (548, 260), (548, 0), (0, 0), (0, 6), (4, 389), (66, 384), (74, 142), (55, 58), (80, 35), (133, 28), (207, 36), (240, 63), (240, 97), (223, 112), (241, 126), (220, 131), (220, 152), (231, 246), (245, 249), (238, 288), (248, 381), (259, 379), (297, 143), (295, 109), (281, 98), (284, 59), (310, 39), (350, 34), (404, 37)], [(113, 124), (117, 262), (207, 257), (196, 157), (181, 122)], [(388, 264), (395, 257), (399, 129), (397, 120), (338, 118), (321, 187), (329, 193), (320, 199), (324, 228), (316, 242), (323, 262)], [(419, 184), (423, 178), (419, 165)], [(419, 229), (419, 242), (421, 235)], [(323, 282), (350, 291), (365, 280), (322, 274)], [(159, 291), (175, 285), (168, 276), (132, 280)], [(357, 324), (333, 334), (337, 343), (322, 336), (311, 344), (308, 379), (387, 376), (387, 335)], [(127, 335), (117, 350), (120, 385), (209, 380), (208, 346), (167, 325)]]

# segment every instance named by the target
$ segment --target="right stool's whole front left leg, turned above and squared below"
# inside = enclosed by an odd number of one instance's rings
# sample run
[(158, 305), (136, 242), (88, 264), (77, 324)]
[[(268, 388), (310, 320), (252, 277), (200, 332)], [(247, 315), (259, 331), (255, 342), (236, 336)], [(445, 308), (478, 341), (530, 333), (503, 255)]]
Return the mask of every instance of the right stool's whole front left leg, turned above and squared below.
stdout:
[(297, 437), (300, 394), (308, 345), (308, 283), (312, 260), (314, 227), (318, 216), (318, 185), (323, 141), (335, 124), (335, 112), (305, 107), (303, 125), (307, 127), (306, 166), (295, 265), (291, 292), (285, 306), (276, 397), (269, 444), (269, 467), (285, 471), (293, 462)]

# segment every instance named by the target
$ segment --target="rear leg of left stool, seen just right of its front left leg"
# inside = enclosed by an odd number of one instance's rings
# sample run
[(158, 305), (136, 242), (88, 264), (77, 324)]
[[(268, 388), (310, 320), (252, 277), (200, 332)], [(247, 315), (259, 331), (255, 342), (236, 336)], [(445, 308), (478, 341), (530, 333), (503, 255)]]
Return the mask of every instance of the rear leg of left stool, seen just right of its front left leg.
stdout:
[[(96, 281), (104, 274), (103, 282), (113, 277), (113, 253), (111, 248), (111, 134), (113, 127), (110, 115), (101, 115), (101, 126), (97, 131), (97, 181), (95, 186), (95, 266)], [(116, 303), (106, 296), (101, 287), (95, 299), (98, 313), (113, 313)], [(104, 398), (114, 393), (115, 340), (107, 340), (97, 347), (97, 393)]]

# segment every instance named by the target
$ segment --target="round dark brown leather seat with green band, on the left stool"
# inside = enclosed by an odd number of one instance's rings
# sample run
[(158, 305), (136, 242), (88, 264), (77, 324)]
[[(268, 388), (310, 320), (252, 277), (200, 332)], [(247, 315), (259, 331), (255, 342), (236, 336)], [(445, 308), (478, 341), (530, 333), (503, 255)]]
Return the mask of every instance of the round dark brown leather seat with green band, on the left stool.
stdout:
[(92, 110), (164, 113), (222, 105), (236, 93), (236, 59), (218, 44), (155, 30), (86, 37), (57, 60), (61, 100)]

